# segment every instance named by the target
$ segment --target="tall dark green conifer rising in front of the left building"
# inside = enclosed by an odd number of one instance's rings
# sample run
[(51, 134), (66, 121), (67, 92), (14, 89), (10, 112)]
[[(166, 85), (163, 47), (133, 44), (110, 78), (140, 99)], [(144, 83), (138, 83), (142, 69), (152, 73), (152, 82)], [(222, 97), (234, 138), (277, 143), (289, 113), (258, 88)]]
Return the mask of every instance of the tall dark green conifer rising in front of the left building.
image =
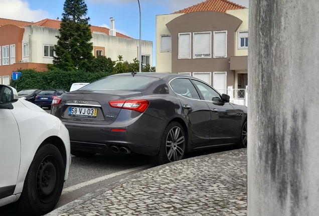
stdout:
[(63, 70), (89, 69), (93, 43), (84, 0), (65, 0), (53, 64)]

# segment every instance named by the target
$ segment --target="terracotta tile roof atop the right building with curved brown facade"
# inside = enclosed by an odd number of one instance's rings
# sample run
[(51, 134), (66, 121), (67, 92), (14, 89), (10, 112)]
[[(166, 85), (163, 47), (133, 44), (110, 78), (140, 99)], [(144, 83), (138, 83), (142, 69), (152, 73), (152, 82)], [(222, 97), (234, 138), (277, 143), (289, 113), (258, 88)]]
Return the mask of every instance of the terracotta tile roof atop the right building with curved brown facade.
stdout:
[(229, 0), (206, 0), (201, 3), (195, 4), (193, 6), (176, 11), (174, 13), (189, 13), (189, 12), (204, 11), (204, 10), (226, 12), (226, 10), (229, 10), (229, 9), (243, 9), (243, 8), (245, 7)]

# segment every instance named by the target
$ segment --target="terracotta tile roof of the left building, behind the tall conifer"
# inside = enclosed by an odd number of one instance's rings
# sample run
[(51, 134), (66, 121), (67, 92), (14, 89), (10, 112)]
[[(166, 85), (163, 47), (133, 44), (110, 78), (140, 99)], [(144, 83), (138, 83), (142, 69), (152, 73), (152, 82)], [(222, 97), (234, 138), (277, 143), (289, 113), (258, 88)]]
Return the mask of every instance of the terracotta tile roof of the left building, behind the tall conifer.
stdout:
[[(37, 22), (27, 22), (27, 21), (19, 21), (19, 20), (13, 20), (13, 19), (5, 19), (5, 18), (0, 18), (0, 26), (5, 25), (5, 24), (14, 24), (20, 27), (26, 26), (26, 25), (38, 25), (38, 26), (43, 26), (43, 27), (52, 27), (52, 28), (60, 28), (60, 20), (56, 19), (42, 19)], [(95, 26), (91, 25), (91, 32), (93, 31), (98, 31), (98, 32), (103, 32), (109, 35), (109, 28), (107, 27), (101, 27), (101, 26)], [(118, 37), (124, 37), (124, 38), (131, 38), (125, 34), (116, 32), (116, 36)]]

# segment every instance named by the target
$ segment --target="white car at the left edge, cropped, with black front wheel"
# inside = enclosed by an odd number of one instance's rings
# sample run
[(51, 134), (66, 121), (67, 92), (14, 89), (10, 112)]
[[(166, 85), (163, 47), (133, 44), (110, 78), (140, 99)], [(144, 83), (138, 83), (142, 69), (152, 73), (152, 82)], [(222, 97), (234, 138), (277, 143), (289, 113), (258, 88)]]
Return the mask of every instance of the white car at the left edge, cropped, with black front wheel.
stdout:
[(51, 211), (70, 162), (69, 131), (62, 121), (0, 84), (0, 206), (17, 201), (26, 214)]

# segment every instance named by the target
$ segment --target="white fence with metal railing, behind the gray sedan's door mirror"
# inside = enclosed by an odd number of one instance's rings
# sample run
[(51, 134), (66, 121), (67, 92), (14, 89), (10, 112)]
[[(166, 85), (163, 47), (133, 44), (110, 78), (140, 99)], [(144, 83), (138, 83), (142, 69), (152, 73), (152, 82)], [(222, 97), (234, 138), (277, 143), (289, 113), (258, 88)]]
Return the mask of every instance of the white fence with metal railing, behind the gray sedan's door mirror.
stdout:
[(233, 88), (232, 85), (228, 86), (227, 89), (216, 89), (220, 93), (227, 93), (230, 98), (229, 101), (235, 104), (240, 105), (248, 105), (248, 86), (246, 85), (246, 88)]

